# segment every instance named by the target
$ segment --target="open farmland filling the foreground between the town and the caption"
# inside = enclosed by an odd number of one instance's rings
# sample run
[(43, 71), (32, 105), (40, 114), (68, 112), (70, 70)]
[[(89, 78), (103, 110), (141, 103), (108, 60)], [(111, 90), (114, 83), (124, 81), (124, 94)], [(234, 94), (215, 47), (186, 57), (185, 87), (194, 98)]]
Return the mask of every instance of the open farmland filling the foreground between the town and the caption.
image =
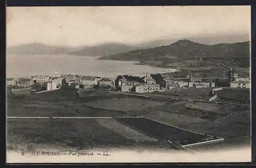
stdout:
[[(201, 90), (186, 94), (200, 97), (206, 93), (208, 91)], [(86, 97), (77, 98), (74, 90), (59, 89), (35, 95), (8, 96), (7, 116), (76, 118), (7, 119), (7, 147), (169, 149), (163, 139), (173, 138), (182, 144), (191, 144), (208, 138), (179, 128), (228, 140), (250, 135), (249, 107), (167, 101), (168, 94), (172, 93), (147, 99), (92, 91), (84, 93)], [(179, 128), (141, 118), (112, 119), (129, 115), (143, 116)]]

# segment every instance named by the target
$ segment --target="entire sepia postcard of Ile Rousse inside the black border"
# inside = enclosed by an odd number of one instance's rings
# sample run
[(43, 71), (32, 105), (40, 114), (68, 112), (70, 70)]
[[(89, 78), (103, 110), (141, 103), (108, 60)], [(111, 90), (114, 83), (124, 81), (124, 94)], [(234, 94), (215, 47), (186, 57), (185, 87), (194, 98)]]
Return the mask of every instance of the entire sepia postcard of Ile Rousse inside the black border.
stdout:
[(6, 8), (6, 162), (251, 162), (250, 6)]

